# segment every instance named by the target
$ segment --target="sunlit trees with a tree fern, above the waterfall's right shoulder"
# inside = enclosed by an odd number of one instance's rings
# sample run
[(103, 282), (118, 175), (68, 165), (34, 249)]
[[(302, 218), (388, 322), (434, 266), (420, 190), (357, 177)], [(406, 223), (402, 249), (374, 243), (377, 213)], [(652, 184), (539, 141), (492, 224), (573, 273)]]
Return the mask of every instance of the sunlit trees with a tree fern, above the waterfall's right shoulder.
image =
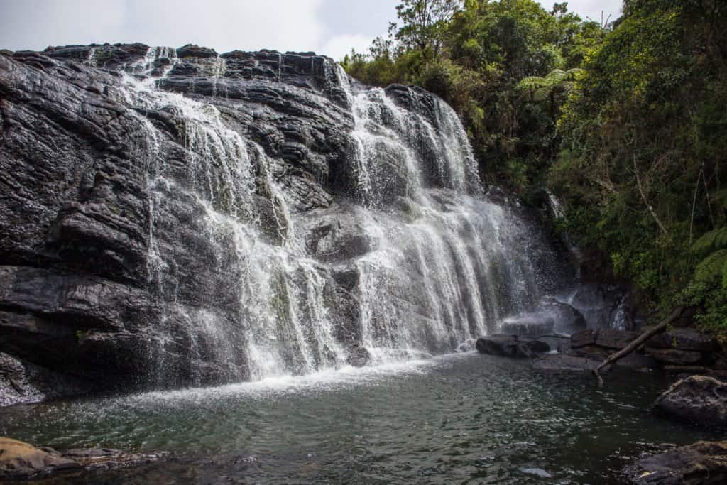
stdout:
[[(409, 0), (397, 12), (390, 39), (374, 41), (368, 55), (353, 52), (346, 71), (366, 84), (417, 84), (440, 95), (462, 117), (483, 178), (520, 193), (542, 185), (579, 56), (604, 29), (566, 4), (547, 12), (534, 0)], [(532, 96), (525, 87), (535, 79), (548, 86)]]

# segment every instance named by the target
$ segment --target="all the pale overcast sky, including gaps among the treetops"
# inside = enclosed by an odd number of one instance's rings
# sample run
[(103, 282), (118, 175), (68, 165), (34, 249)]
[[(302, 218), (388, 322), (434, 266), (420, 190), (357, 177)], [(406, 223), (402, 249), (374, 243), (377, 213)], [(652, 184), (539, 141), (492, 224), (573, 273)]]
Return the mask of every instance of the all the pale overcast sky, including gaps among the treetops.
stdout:
[[(554, 0), (541, 1), (548, 9)], [(0, 49), (143, 42), (180, 47), (365, 52), (399, 0), (0, 0)], [(621, 0), (571, 0), (582, 17), (615, 18)]]

